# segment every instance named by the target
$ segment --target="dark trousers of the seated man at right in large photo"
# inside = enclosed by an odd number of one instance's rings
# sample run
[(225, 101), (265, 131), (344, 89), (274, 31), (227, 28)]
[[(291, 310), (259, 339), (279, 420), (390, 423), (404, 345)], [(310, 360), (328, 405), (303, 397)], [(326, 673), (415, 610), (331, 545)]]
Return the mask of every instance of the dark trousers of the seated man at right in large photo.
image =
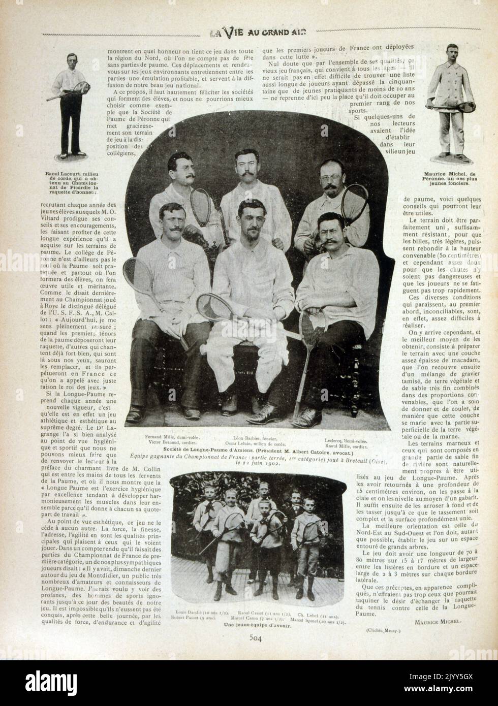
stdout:
[[(364, 343), (363, 327), (356, 321), (336, 321), (321, 335), (309, 356), (308, 374), (302, 402), (322, 409), (328, 388), (334, 384), (340, 361), (346, 351)], [(282, 409), (295, 405), (297, 390), (306, 360), (306, 348), (300, 341), (288, 340), (289, 364), (282, 369), (270, 388), (268, 402)]]

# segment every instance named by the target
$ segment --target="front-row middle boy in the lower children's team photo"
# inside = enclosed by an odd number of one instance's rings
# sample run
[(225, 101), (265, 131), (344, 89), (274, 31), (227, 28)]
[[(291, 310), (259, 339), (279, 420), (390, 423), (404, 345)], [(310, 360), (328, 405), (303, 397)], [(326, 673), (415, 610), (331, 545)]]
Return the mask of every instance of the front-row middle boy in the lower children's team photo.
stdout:
[(272, 580), (272, 596), (278, 601), (278, 574), (280, 573), (280, 554), (282, 551), (283, 523), (272, 510), (268, 500), (260, 500), (258, 503), (260, 517), (251, 530), (251, 541), (258, 548), (254, 551), (258, 566), (259, 587), (254, 592), (255, 596), (261, 596), (265, 579), (268, 572)]

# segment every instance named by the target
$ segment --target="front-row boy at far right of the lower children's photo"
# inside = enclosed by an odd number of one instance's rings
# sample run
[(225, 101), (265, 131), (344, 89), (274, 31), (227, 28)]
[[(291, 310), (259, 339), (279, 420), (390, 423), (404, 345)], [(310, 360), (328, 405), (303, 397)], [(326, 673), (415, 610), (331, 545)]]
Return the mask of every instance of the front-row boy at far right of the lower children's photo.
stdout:
[(308, 577), (307, 596), (314, 601), (313, 582), (318, 568), (320, 537), (326, 537), (322, 520), (315, 515), (315, 501), (304, 498), (304, 511), (298, 515), (290, 534), (292, 549), (297, 552), (297, 600), (304, 595), (304, 578)]

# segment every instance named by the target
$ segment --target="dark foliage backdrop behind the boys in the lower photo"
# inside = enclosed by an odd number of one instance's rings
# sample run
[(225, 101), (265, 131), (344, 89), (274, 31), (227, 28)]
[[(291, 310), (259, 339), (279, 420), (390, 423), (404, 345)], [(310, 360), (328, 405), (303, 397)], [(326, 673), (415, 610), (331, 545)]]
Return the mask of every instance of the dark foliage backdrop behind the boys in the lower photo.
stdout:
[[(203, 486), (210, 483), (216, 489), (216, 499), (223, 501), (228, 488), (237, 489), (237, 505), (244, 513), (249, 508), (252, 498), (259, 496), (259, 483), (267, 481), (271, 499), (277, 509), (290, 501), (292, 489), (302, 493), (302, 498), (311, 496), (316, 501), (315, 513), (321, 520), (328, 522), (329, 537), (321, 539), (320, 560), (317, 575), (328, 578), (344, 578), (344, 530), (343, 500), (346, 489), (344, 483), (320, 476), (304, 476), (283, 473), (223, 473), (201, 472), (187, 473), (170, 480), (174, 488), (173, 513), (174, 532), (172, 532), (171, 553), (173, 556), (198, 559), (198, 546), (191, 540), (196, 532), (192, 528), (194, 511), (204, 499)], [(287, 523), (288, 531), (285, 542), (290, 542), (292, 522)], [(249, 534), (249, 533), (247, 533)], [(249, 542), (249, 539), (247, 539)], [(242, 555), (247, 552), (242, 552)], [(239, 568), (248, 568), (249, 559)]]

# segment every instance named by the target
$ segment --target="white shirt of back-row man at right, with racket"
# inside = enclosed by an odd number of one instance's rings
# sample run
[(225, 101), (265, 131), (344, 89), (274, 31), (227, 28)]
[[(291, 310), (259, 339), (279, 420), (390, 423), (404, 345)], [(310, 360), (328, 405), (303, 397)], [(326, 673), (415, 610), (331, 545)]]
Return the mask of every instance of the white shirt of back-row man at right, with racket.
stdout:
[[(338, 193), (337, 196), (334, 196), (334, 198), (330, 198), (326, 193), (323, 193), (319, 198), (316, 198), (307, 205), (294, 237), (294, 247), (297, 248), (297, 250), (304, 253), (304, 241), (309, 238), (318, 226), (318, 219), (322, 213), (340, 214), (340, 202), (343, 200), (343, 193), (344, 190)], [(348, 196), (346, 196), (345, 201), (350, 201), (353, 206), (359, 204), (360, 208), (363, 205), (362, 198), (352, 193), (352, 191), (348, 191)], [(346, 208), (347, 206), (345, 205), (344, 210), (346, 210)], [(348, 217), (348, 213), (346, 213), (346, 217)], [(361, 248), (361, 246), (367, 242), (369, 229), (370, 210), (367, 205), (362, 215), (360, 215), (360, 218), (355, 220), (351, 225), (346, 226), (343, 233), (345, 239), (350, 242), (351, 245)]]

